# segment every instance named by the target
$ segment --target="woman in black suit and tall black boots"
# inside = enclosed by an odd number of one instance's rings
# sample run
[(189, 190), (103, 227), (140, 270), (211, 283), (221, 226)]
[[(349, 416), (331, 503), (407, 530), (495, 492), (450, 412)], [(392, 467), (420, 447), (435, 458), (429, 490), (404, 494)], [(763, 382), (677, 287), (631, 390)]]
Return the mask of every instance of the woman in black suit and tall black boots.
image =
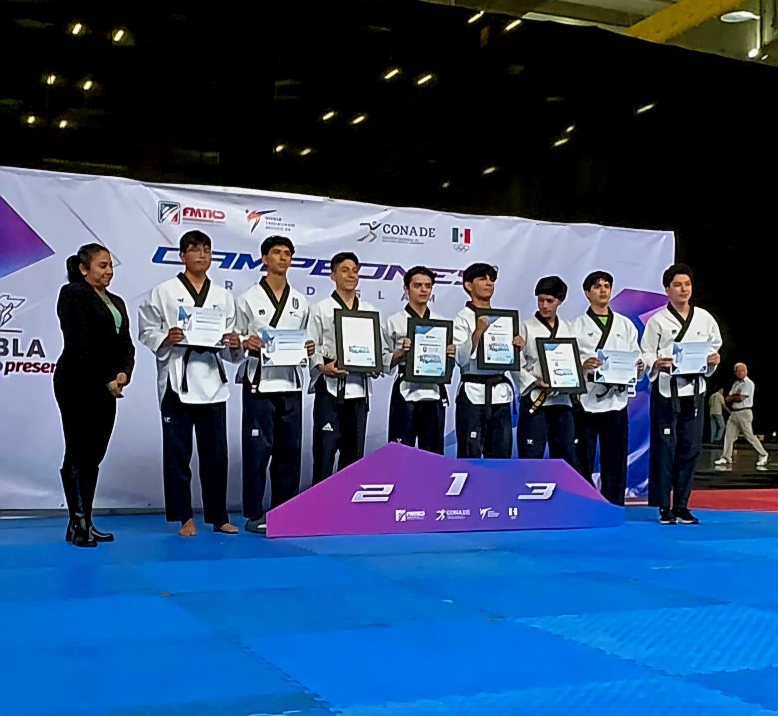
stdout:
[(116, 401), (135, 365), (135, 347), (124, 301), (106, 290), (114, 278), (107, 249), (86, 244), (68, 258), (67, 267), (69, 283), (57, 302), (64, 348), (54, 371), (54, 396), (65, 432), (61, 475), (70, 515), (65, 540), (76, 547), (96, 547), (114, 540), (93, 525), (92, 503), (114, 430)]

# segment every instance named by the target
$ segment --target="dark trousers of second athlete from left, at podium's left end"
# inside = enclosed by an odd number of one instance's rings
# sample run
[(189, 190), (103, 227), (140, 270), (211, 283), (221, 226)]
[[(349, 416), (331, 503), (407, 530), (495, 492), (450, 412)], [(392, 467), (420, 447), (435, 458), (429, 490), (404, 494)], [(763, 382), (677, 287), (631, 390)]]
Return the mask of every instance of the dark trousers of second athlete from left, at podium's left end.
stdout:
[(265, 515), (262, 503), (270, 465), (270, 507), (278, 507), (300, 491), (300, 435), (303, 428), (303, 395), (254, 393), (243, 387), (243, 487), (244, 516)]

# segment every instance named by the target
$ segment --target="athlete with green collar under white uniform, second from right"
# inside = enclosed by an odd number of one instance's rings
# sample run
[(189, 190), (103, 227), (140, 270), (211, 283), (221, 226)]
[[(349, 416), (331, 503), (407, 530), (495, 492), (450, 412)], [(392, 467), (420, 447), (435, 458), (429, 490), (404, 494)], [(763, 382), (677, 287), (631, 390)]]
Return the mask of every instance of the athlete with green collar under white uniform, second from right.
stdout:
[[(587, 392), (580, 396), (582, 412), (578, 427), (578, 457), (584, 477), (591, 482), (594, 456), (600, 442), (601, 492), (614, 505), (624, 505), (629, 455), (627, 386), (594, 382), (594, 371), (602, 363), (598, 351), (640, 351), (635, 324), (614, 313), (611, 302), (613, 277), (607, 271), (594, 271), (584, 279), (587, 312), (573, 322), (584, 366)], [(636, 376), (643, 374), (643, 361), (636, 361)]]

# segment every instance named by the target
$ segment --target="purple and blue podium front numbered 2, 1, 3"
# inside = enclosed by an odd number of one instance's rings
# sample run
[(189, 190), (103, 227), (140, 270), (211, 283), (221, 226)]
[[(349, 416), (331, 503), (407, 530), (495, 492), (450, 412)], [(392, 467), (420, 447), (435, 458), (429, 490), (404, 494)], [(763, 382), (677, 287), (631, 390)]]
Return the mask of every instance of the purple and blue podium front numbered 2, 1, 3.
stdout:
[(268, 512), (268, 537), (616, 527), (564, 460), (460, 460), (391, 443)]

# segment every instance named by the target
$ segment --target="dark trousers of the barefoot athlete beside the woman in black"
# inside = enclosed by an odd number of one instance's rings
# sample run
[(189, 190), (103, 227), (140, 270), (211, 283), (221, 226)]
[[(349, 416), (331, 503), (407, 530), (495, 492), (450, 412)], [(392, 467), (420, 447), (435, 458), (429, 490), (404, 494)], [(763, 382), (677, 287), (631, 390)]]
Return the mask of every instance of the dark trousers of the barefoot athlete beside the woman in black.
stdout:
[(226, 403), (182, 403), (168, 386), (162, 399), (162, 454), (168, 522), (192, 518), (192, 430), (200, 459), (203, 519), (223, 525), (227, 516)]

